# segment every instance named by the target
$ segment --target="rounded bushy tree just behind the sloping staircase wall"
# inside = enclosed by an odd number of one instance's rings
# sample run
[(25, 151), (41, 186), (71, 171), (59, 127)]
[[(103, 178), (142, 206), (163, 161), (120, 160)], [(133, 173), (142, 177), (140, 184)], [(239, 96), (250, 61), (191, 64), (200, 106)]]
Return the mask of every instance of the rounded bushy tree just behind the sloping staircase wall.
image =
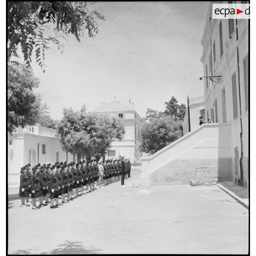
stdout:
[(171, 116), (153, 117), (140, 130), (140, 150), (150, 155), (155, 154), (182, 136), (178, 122)]

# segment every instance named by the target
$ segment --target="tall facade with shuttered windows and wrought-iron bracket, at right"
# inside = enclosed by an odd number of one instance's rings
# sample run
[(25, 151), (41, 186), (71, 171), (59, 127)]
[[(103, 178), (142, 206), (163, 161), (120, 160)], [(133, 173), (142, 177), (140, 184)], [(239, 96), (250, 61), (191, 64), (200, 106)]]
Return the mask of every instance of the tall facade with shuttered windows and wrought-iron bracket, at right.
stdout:
[[(204, 76), (221, 76), (217, 83), (204, 78), (205, 117), (230, 125), (232, 179), (248, 186), (248, 19), (212, 19), (212, 3), (201, 40)], [(240, 136), (241, 134), (241, 136)], [(242, 157), (241, 157), (242, 155)]]

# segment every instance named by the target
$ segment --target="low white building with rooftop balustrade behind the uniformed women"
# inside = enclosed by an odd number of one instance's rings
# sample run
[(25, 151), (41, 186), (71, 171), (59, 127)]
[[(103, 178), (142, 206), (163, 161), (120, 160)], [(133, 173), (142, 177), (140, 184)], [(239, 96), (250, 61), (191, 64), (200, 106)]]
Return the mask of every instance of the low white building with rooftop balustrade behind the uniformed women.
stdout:
[(36, 123), (8, 134), (8, 184), (19, 184), (20, 169), (28, 163), (33, 167), (56, 161), (73, 161), (73, 155), (61, 149), (55, 129)]

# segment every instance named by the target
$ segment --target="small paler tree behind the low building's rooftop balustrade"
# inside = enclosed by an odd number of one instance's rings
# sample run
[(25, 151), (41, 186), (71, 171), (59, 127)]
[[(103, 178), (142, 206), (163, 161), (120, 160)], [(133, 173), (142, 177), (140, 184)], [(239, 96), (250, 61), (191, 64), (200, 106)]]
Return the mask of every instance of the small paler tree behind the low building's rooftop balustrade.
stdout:
[(56, 129), (60, 121), (57, 119), (54, 120), (52, 117), (50, 117), (50, 112), (48, 110), (49, 107), (47, 106), (46, 102), (41, 104), (36, 117), (36, 122), (41, 123), (41, 125), (44, 127)]

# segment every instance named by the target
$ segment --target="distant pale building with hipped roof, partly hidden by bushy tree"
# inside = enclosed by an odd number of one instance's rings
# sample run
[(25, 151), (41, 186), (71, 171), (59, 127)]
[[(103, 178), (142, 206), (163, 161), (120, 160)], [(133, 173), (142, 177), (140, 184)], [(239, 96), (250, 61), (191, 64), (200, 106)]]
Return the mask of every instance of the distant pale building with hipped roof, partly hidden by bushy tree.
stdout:
[(121, 140), (115, 139), (111, 149), (108, 150), (106, 159), (116, 159), (119, 156), (129, 157), (132, 164), (139, 164), (142, 152), (139, 150), (139, 130), (142, 118), (134, 110), (134, 103), (125, 106), (117, 100), (109, 103), (100, 102), (100, 106), (91, 111), (99, 115), (117, 117), (124, 124), (125, 134)]

